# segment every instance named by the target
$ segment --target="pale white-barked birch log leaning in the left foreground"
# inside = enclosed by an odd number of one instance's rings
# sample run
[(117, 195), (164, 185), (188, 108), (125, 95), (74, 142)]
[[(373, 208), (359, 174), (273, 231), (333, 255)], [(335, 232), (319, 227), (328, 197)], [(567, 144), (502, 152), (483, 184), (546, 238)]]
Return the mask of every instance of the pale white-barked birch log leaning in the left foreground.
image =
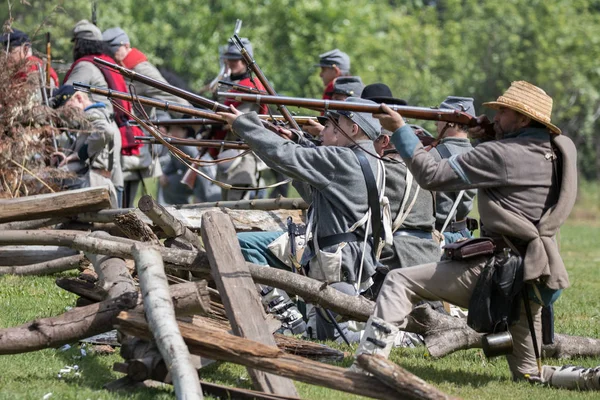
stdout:
[(175, 319), (169, 283), (160, 252), (155, 247), (133, 246), (146, 318), (171, 376), (178, 399), (202, 399), (198, 373)]

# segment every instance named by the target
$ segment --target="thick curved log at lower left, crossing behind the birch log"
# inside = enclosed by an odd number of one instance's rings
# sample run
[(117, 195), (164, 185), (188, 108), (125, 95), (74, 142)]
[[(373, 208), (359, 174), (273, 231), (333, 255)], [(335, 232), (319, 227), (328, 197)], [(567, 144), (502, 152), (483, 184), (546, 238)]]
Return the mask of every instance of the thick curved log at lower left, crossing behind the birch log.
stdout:
[[(169, 293), (180, 315), (202, 314), (209, 304), (206, 282), (172, 285)], [(0, 355), (59, 347), (113, 329), (123, 310), (140, 307), (137, 293), (126, 293), (85, 307), (73, 308), (56, 317), (40, 318), (14, 328), (0, 329)], [(138, 308), (140, 312), (142, 308)]]

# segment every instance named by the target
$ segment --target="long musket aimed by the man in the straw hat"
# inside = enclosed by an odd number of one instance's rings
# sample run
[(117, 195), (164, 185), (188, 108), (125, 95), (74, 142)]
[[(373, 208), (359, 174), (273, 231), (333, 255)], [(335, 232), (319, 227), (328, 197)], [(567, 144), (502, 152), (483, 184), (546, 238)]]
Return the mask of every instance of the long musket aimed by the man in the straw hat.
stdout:
[[(219, 92), (219, 96), (226, 98), (232, 98), (235, 101), (249, 102), (256, 104), (283, 104), (287, 106), (304, 107), (311, 109), (321, 109), (324, 111), (328, 110), (340, 110), (340, 111), (354, 111), (354, 112), (365, 112), (365, 113), (381, 113), (383, 112), (381, 104), (361, 104), (361, 103), (349, 103), (345, 101), (335, 100), (321, 100), (321, 99), (305, 99), (300, 97), (285, 97), (285, 96), (263, 96), (245, 93), (230, 93), (230, 92)], [(427, 107), (413, 107), (413, 106), (400, 106), (394, 104), (388, 104), (392, 110), (399, 112), (403, 117), (422, 119), (429, 121), (445, 121), (454, 122), (460, 125), (476, 126), (479, 125), (477, 118), (457, 110), (439, 109), (439, 108), (427, 108)]]

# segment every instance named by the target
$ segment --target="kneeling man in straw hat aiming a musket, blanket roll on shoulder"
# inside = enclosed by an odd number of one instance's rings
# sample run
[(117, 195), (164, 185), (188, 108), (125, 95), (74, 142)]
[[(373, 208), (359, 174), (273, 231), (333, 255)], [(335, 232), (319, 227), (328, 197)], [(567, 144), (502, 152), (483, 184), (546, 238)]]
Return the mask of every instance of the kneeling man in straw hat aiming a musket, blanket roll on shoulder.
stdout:
[[(383, 106), (383, 112), (374, 115), (394, 132), (392, 142), (423, 188), (479, 189), (482, 236), (494, 239), (495, 254), (391, 271), (358, 354), (387, 356), (396, 332), (406, 327), (407, 314), (420, 300), (443, 300), (475, 309), (470, 300), (479, 289), (478, 282), (485, 280), (480, 277), (486, 266), (500, 269), (508, 265), (505, 261), (513, 260), (513, 265), (522, 268), (522, 279), (509, 282), (519, 288), (512, 300), (523, 297), (527, 302), (513, 301), (515, 313), (505, 324), (512, 334), (513, 350), (506, 357), (514, 379), (539, 377), (541, 364), (536, 358), (541, 340), (536, 340), (535, 350), (533, 343), (534, 337), (541, 338), (541, 308), (569, 286), (555, 235), (575, 202), (577, 153), (573, 142), (551, 123), (552, 98), (542, 89), (513, 82), (497, 101), (484, 105), (497, 110), (497, 140), (440, 161), (425, 151), (400, 114)], [(518, 256), (522, 263), (514, 258)], [(526, 305), (533, 316), (533, 330), (528, 326)]]

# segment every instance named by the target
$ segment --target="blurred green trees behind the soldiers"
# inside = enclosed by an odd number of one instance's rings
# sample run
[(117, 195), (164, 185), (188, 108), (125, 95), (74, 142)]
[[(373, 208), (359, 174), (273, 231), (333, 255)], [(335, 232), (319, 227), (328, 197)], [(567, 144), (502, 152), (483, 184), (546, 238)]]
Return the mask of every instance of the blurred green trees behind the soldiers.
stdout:
[[(66, 63), (71, 30), (91, 10), (90, 0), (0, 4), (36, 50), (45, 52), (51, 32), (53, 57)], [(336, 47), (352, 74), (411, 105), (471, 96), (489, 113), (483, 102), (527, 80), (553, 97), (553, 122), (575, 141), (582, 176), (600, 180), (600, 0), (98, 0), (97, 16), (101, 30), (122, 27), (195, 90), (217, 74), (218, 47), (238, 18), (257, 63), (289, 96), (320, 97), (313, 64)]]

